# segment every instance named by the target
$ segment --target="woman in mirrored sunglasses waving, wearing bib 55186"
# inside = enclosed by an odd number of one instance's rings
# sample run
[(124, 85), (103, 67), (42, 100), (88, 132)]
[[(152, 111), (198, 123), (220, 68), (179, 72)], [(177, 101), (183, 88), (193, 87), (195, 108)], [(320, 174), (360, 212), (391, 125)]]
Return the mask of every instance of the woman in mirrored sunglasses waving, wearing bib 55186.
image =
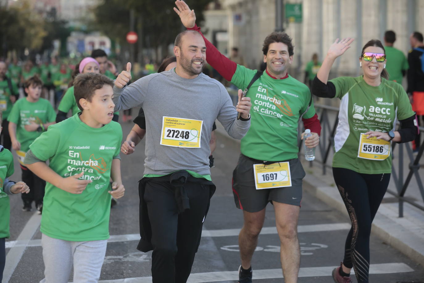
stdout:
[[(363, 76), (328, 81), (335, 59), (352, 42), (350, 38), (337, 39), (330, 46), (312, 84), (315, 95), (340, 98), (332, 167), (352, 227), (343, 262), (332, 272), (336, 283), (351, 282), (352, 267), (358, 282), (369, 282), (371, 223), (390, 181), (391, 141), (409, 142), (418, 130), (406, 92), (400, 84), (387, 80), (386, 55), (379, 40), (370, 40), (362, 48), (358, 63)], [(396, 120), (401, 124), (397, 131)]]

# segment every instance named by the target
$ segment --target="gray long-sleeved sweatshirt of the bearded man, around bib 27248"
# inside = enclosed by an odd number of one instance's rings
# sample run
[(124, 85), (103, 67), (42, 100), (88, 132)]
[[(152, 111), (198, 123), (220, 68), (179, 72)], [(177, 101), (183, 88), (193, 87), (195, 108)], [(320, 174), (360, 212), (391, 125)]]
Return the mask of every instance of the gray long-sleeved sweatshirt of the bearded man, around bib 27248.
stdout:
[[(146, 118), (144, 174), (165, 175), (190, 170), (209, 175), (209, 140), (218, 119), (231, 137), (241, 139), (250, 120), (237, 120), (237, 111), (225, 87), (204, 73), (193, 79), (181, 78), (175, 68), (145, 76), (114, 90), (115, 111), (141, 106)], [(163, 116), (202, 120), (201, 147), (161, 145)]]

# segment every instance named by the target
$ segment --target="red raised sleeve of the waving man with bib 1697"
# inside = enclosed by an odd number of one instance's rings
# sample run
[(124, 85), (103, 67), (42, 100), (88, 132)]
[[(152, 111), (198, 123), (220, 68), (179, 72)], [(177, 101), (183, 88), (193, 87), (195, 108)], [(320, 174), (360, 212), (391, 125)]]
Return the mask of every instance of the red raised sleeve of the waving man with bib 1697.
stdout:
[(218, 73), (223, 76), (227, 81), (231, 81), (234, 73), (237, 69), (237, 64), (232, 62), (226, 56), (222, 55), (209, 40), (202, 34), (200, 28), (195, 25), (192, 28), (187, 28), (190, 31), (198, 31), (205, 40), (206, 43), (206, 61), (218, 71)]

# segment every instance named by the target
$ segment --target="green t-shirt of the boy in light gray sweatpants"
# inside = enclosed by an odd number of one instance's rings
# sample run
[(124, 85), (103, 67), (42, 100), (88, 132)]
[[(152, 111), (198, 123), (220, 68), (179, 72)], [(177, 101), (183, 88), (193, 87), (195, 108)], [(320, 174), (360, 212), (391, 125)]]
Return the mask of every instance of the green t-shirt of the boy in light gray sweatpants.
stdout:
[(93, 180), (81, 194), (63, 191), (47, 182), (41, 232), (66, 241), (109, 238), (111, 196), (108, 193), (112, 159), (119, 156), (122, 129), (111, 121), (91, 128), (76, 114), (48, 128), (30, 146), (40, 160), (67, 178), (84, 172)]

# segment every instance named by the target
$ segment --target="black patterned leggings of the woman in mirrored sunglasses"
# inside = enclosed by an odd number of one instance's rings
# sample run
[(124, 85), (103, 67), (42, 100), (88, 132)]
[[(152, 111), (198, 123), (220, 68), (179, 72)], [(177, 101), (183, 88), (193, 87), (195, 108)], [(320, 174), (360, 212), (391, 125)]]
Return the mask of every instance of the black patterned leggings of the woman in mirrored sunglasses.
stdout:
[(358, 282), (368, 283), (371, 223), (386, 193), (390, 174), (361, 174), (333, 167), (333, 176), (352, 222), (343, 264), (353, 267)]

